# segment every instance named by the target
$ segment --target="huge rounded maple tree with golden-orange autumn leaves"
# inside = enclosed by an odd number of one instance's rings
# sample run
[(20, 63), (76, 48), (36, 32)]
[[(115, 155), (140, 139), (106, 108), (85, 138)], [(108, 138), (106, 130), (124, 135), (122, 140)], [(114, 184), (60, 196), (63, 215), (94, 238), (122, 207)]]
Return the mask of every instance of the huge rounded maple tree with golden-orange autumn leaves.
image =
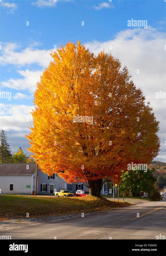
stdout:
[(45, 173), (83, 182), (100, 196), (103, 179), (157, 156), (158, 122), (112, 55), (69, 42), (51, 56), (34, 94), (29, 150)]

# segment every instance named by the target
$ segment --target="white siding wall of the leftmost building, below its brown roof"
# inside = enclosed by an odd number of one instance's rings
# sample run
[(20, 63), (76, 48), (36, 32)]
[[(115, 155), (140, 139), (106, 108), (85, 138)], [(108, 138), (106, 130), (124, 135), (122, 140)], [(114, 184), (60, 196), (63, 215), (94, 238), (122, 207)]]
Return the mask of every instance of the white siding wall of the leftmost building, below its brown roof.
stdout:
[[(14, 184), (14, 191), (9, 191), (9, 184)], [(32, 194), (32, 175), (0, 175), (0, 189), (3, 194)]]

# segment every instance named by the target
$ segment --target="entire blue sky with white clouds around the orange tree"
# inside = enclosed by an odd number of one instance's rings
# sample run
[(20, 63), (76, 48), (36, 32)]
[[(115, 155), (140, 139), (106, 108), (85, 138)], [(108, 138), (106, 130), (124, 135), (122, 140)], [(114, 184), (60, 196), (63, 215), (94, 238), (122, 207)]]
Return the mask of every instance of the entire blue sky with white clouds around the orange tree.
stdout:
[[(1, 126), (12, 153), (20, 146), (27, 153), (33, 93), (51, 59), (49, 52), (80, 40), (96, 54), (111, 46), (127, 65), (160, 121), (161, 151), (155, 160), (166, 162), (165, 99), (155, 98), (165, 91), (164, 0), (1, 0), (0, 5), (1, 92), (12, 95), (1, 99)], [(128, 27), (131, 19), (146, 20), (147, 28)]]

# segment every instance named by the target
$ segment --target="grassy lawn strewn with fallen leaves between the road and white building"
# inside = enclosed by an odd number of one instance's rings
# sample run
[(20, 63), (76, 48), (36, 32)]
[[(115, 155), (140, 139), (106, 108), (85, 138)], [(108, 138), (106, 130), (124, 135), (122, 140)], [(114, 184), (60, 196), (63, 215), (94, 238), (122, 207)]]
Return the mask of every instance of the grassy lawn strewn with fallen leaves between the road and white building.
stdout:
[(26, 218), (58, 216), (65, 214), (86, 213), (111, 208), (130, 206), (127, 202), (116, 202), (97, 198), (86, 197), (54, 197), (54, 196), (25, 196), (25, 195), (0, 195), (0, 220), (9, 218)]

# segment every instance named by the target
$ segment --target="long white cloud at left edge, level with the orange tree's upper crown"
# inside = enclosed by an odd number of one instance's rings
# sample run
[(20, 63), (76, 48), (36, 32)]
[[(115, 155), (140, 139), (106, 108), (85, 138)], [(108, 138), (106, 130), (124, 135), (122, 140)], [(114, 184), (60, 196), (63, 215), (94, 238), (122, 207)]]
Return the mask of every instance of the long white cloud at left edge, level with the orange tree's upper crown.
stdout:
[(16, 50), (19, 48), (16, 43), (1, 43), (1, 45), (2, 56), (0, 56), (0, 65), (24, 66), (35, 63), (41, 67), (46, 67), (51, 60), (51, 49), (38, 50), (28, 47), (19, 52)]

